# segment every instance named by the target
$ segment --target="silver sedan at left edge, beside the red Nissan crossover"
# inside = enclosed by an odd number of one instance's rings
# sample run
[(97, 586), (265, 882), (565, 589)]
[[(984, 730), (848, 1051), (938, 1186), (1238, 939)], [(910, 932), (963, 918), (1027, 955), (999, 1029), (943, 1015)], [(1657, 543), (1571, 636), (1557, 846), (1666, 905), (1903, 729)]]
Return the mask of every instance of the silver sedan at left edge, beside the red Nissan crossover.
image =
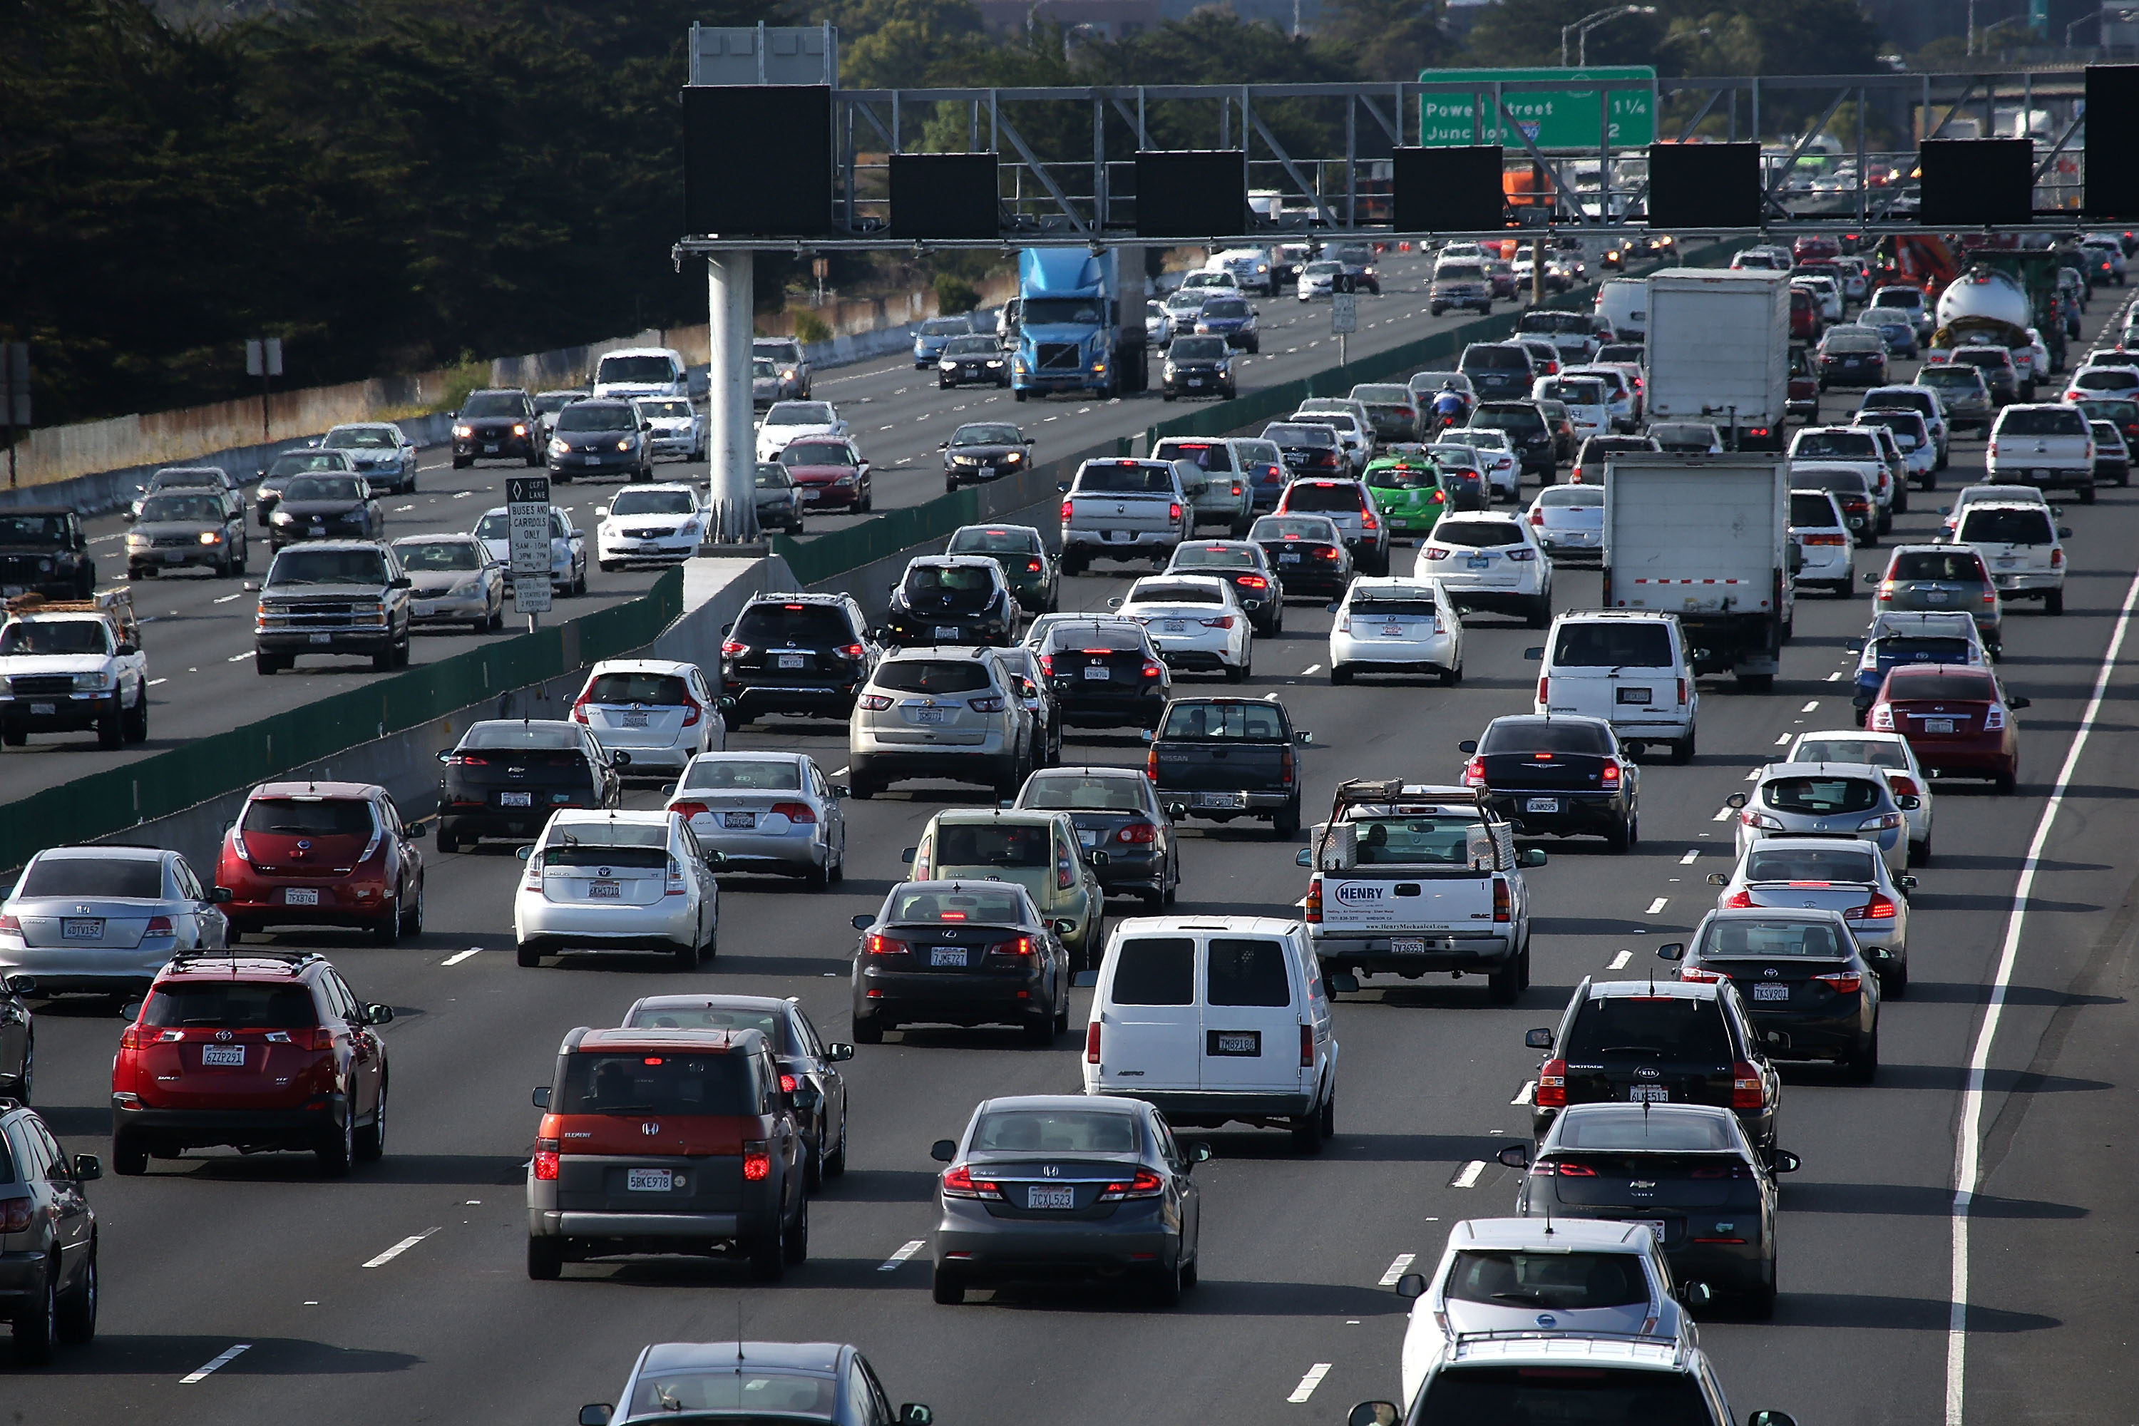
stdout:
[(180, 951), (220, 951), (227, 887), (203, 887), (175, 851), (49, 847), (0, 902), (0, 975), (39, 994), (148, 990)]

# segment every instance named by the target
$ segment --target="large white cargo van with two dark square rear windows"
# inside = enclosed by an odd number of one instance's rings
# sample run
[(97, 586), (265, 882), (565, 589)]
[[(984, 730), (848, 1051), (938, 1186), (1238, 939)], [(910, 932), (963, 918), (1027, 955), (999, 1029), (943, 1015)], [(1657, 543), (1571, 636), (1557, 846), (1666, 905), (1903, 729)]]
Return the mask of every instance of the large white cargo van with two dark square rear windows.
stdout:
[(1084, 1092), (1157, 1105), (1176, 1129), (1337, 1127), (1337, 1037), (1307, 928), (1275, 917), (1114, 926), (1084, 1035)]

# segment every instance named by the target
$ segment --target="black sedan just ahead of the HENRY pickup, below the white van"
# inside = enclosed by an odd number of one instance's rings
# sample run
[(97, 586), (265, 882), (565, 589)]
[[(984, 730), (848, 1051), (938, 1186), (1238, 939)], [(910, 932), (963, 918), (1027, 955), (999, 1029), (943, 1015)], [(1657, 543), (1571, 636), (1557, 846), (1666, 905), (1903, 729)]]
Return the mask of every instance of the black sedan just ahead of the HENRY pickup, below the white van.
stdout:
[(1604, 718), (1510, 714), (1457, 746), (1472, 755), (1463, 787), (1487, 789), (1519, 834), (1641, 840), (1641, 768)]

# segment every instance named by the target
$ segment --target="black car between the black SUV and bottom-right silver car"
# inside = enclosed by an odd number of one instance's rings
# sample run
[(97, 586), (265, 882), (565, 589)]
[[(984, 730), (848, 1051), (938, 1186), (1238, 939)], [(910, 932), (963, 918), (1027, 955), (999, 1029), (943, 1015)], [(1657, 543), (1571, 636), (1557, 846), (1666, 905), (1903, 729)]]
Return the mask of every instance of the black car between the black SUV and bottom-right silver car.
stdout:
[(1775, 1313), (1775, 1174), (1797, 1154), (1767, 1167), (1728, 1110), (1585, 1103), (1559, 1116), (1534, 1165), (1525, 1144), (1499, 1161), (1529, 1167), (1517, 1216), (1647, 1223), (1681, 1285)]

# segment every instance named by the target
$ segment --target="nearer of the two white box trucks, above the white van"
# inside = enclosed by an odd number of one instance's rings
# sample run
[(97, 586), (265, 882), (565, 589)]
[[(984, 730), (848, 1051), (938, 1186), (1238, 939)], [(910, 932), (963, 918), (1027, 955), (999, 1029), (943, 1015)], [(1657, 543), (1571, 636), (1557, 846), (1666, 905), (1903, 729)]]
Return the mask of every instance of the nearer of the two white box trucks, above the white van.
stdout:
[(1797, 560), (1790, 462), (1748, 451), (1604, 464), (1604, 607), (1677, 614), (1696, 676), (1775, 686)]

